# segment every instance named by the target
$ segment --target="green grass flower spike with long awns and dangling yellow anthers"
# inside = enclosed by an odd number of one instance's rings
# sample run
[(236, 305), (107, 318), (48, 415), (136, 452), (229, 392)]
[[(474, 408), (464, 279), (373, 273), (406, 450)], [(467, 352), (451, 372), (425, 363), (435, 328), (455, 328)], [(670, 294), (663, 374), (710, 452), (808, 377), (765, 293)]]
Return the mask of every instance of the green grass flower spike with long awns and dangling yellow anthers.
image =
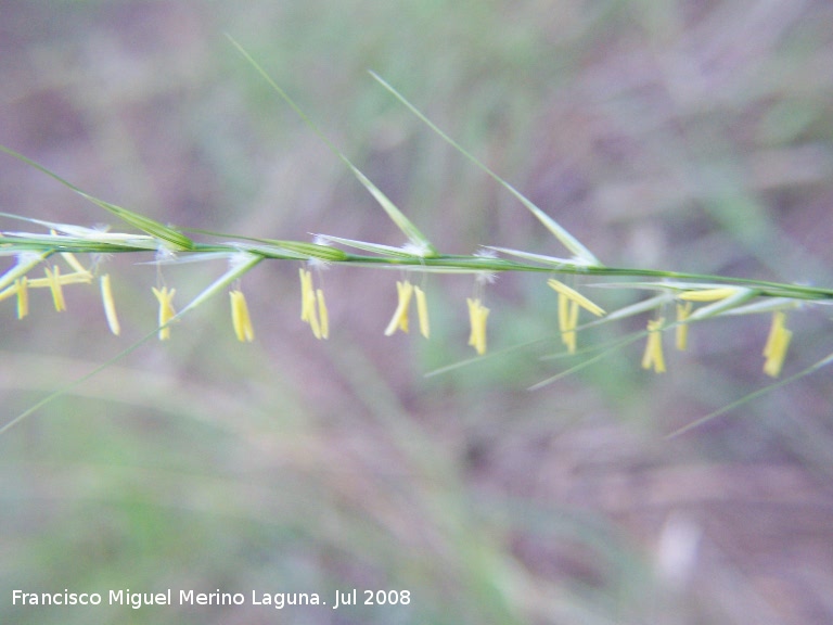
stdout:
[[(401, 231), (406, 243), (394, 246), (334, 234), (318, 234), (311, 242), (291, 241), (210, 232), (197, 228), (177, 228), (94, 197), (42, 165), (9, 148), (0, 146), (0, 150), (7, 154), (39, 169), (117, 217), (123, 226), (131, 230), (110, 231), (1, 214), (9, 219), (27, 221), (43, 230), (43, 232), (17, 230), (0, 232), (0, 255), (14, 259), (11, 267), (0, 276), (0, 301), (16, 301), (18, 319), (26, 317), (30, 306), (34, 305), (30, 301), (31, 290), (48, 290), (52, 295), (55, 310), (63, 311), (66, 309), (64, 289), (91, 284), (98, 273), (107, 326), (113, 334), (118, 335), (120, 323), (117, 302), (111, 289), (111, 275), (102, 273), (101, 268), (108, 255), (150, 253), (154, 255), (154, 264), (157, 266), (157, 284), (152, 293), (158, 303), (158, 323), (157, 328), (142, 341), (153, 334), (163, 341), (170, 339), (174, 322), (179, 321), (185, 314), (226, 288), (230, 288), (231, 323), (234, 334), (241, 342), (254, 341), (256, 320), (253, 320), (249, 315), (245, 295), (240, 288), (240, 279), (262, 260), (291, 260), (302, 265), (299, 269), (300, 320), (307, 323), (316, 339), (320, 340), (330, 336), (330, 315), (323, 289), (320, 285), (316, 286), (313, 272), (321, 271), (330, 265), (396, 269), (403, 277), (397, 282), (398, 304), (387, 327), (380, 331), (385, 335), (394, 334), (396, 331), (408, 332), (408, 312), (413, 297), (416, 303), (420, 333), (424, 339), (430, 339), (428, 294), (422, 286), (412, 284), (407, 276), (428, 272), (463, 273), (474, 278), (473, 296), (461, 295), (460, 298), (461, 303), (465, 301), (467, 304), (471, 328), (469, 345), (474, 348), (477, 356), (484, 356), (487, 352), (487, 320), (490, 312), (484, 304), (488, 282), (497, 273), (527, 272), (540, 273), (541, 284), (549, 285), (558, 296), (558, 327), (567, 355), (582, 356), (577, 349), (579, 331), (625, 317), (644, 315), (648, 317), (645, 330), (639, 335), (639, 337), (644, 336), (645, 340), (641, 366), (656, 373), (663, 373), (667, 370), (663, 342), (667, 332), (672, 332), (675, 335), (675, 348), (685, 350), (689, 328), (696, 322), (716, 317), (771, 315), (769, 335), (761, 342), (762, 372), (771, 378), (778, 378), (786, 360), (793, 336), (793, 331), (787, 329), (786, 312), (799, 306), (833, 303), (833, 289), (720, 275), (605, 266), (562, 225), (435, 126), (388, 82), (373, 74), (386, 90), (440, 138), (517, 199), (553, 234), (567, 254), (550, 256), (487, 243), (483, 244), (482, 250), (471, 254), (445, 253), (315, 126), (300, 107), (243, 48), (234, 41), (232, 43), (275, 92), (323, 139), (330, 150), (376, 200)], [(88, 255), (91, 260), (85, 265), (77, 255)], [(55, 262), (55, 257), (61, 262)], [(218, 258), (226, 259), (229, 269), (190, 303), (177, 310), (174, 303), (177, 290), (165, 283), (162, 278), (162, 267), (169, 264)], [(43, 268), (42, 276), (38, 273), (40, 267)], [(562, 281), (564, 277), (580, 277), (580, 280), (574, 279), (574, 284), (571, 286)], [(616, 279), (595, 283), (595, 286), (653, 291), (658, 294), (637, 304), (607, 311), (605, 307), (579, 292), (578, 289), (590, 277)], [(581, 310), (591, 314), (595, 319), (579, 323)], [(632, 341), (626, 343), (630, 342)], [(600, 356), (585, 358), (584, 363), (594, 362), (599, 358)], [(790, 380), (813, 372), (831, 359), (833, 355), (792, 375)], [(560, 379), (563, 373), (536, 384), (536, 387)], [(757, 392), (754, 395), (756, 394)]]

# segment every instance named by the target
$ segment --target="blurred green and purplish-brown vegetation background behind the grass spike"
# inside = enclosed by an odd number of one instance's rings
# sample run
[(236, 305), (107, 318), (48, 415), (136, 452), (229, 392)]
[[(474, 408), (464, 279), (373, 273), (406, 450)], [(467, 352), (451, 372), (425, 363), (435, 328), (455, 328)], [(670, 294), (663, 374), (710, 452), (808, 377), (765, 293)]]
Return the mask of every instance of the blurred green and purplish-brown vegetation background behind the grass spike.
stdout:
[[(177, 226), (401, 244), (232, 35), (444, 252), (562, 253), (505, 192), (373, 82), (385, 77), (607, 265), (830, 286), (833, 5), (825, 0), (245, 0), (0, 4), (0, 143)], [(2, 157), (0, 211), (108, 216)], [(112, 220), (111, 220), (112, 221)], [(4, 222), (5, 229), (20, 224)], [(142, 258), (141, 260), (152, 260)], [(152, 266), (3, 303), (3, 422), (155, 323)], [(225, 267), (166, 268), (183, 305)], [(684, 436), (767, 384), (768, 319), (692, 330), (669, 372), (641, 345), (563, 370), (540, 277), (431, 277), (431, 341), (382, 330), (396, 275), (323, 275), (332, 339), (298, 320), (297, 264), (225, 297), (0, 438), (3, 623), (824, 623), (833, 620), (833, 386), (821, 371)], [(587, 281), (585, 284), (590, 284)], [(586, 291), (612, 309), (637, 294)], [(37, 295), (43, 295), (38, 293)], [(628, 297), (631, 297), (629, 299)], [(789, 375), (831, 352), (791, 314)], [(615, 326), (615, 327), (614, 327)], [(588, 331), (582, 343), (644, 328)], [(408, 589), (398, 608), (20, 609), (11, 590)]]

